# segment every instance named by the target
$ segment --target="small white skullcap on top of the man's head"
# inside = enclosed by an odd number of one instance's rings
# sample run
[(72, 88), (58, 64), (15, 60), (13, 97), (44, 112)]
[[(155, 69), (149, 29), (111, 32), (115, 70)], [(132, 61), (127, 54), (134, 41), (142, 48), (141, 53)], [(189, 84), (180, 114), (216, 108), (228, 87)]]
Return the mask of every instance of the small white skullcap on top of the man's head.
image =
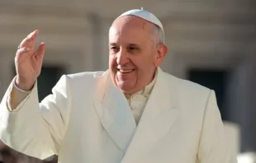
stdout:
[[(153, 13), (143, 10), (143, 8), (133, 9), (133, 10), (124, 12), (124, 13), (121, 14), (121, 16), (138, 16), (142, 19), (145, 19), (146, 21), (152, 22), (153, 24), (159, 26), (161, 28), (161, 30), (163, 31), (163, 33), (164, 33), (164, 27), (163, 27), (161, 21), (159, 21), (159, 19), (156, 16), (154, 16)], [(120, 18), (121, 16), (118, 16), (116, 18), (116, 20), (118, 18)]]

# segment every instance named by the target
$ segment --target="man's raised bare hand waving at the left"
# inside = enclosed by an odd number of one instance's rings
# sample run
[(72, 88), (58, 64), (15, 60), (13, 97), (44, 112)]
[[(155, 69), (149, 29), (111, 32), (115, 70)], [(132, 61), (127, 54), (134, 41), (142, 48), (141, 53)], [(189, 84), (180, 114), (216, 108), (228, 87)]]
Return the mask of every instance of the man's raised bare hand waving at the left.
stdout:
[(40, 75), (45, 54), (45, 43), (36, 49), (36, 36), (39, 30), (33, 31), (21, 41), (15, 57), (17, 72), (16, 85), (23, 91), (31, 90), (36, 78)]

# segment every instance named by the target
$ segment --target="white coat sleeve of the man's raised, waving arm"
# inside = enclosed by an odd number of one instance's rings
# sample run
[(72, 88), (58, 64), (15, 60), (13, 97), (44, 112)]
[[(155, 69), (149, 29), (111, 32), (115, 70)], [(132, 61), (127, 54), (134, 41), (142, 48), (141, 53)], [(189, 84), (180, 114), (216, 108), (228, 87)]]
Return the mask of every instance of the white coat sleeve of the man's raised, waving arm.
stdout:
[(0, 104), (0, 139), (12, 149), (42, 160), (58, 155), (69, 123), (72, 102), (68, 77), (62, 76), (52, 94), (40, 103), (36, 81), (16, 108), (12, 108), (13, 104), (10, 104), (13, 101), (14, 81), (15, 79)]

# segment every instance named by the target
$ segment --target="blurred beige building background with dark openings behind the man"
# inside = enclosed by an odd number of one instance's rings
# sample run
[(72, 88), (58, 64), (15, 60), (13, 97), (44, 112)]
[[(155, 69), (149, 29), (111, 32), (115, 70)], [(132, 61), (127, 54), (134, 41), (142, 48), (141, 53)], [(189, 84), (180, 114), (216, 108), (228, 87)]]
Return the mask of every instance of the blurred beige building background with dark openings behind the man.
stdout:
[[(46, 42), (38, 81), (42, 100), (62, 74), (106, 70), (111, 22), (140, 7), (164, 25), (164, 71), (216, 91), (239, 162), (254, 162), (255, 0), (0, 0), (0, 99), (15, 76), (17, 46), (31, 31), (40, 30), (37, 42)], [(4, 163), (42, 162), (0, 144)]]

